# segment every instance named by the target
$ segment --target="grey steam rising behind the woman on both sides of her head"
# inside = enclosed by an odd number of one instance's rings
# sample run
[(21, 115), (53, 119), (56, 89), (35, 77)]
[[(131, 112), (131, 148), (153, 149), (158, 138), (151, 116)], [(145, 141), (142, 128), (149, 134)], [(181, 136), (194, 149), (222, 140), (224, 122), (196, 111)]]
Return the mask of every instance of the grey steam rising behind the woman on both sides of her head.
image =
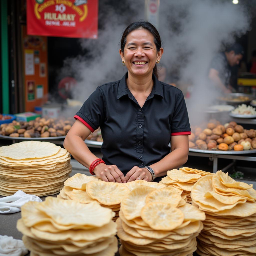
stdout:
[[(73, 99), (84, 102), (97, 86), (119, 80), (126, 72), (118, 53), (119, 41), (129, 23), (144, 19), (144, 1), (122, 2), (129, 6), (122, 13), (117, 13), (118, 6), (104, 8), (108, 13), (99, 17), (104, 25), (97, 40), (81, 39), (88, 54), (65, 60), (60, 75), (72, 71), (79, 80)], [(207, 78), (210, 61), (223, 43), (232, 43), (235, 36), (246, 33), (249, 17), (244, 6), (231, 1), (160, 1), (158, 31), (164, 42), (161, 62), (172, 77), (179, 77), (181, 84), (191, 84), (191, 98), (187, 101), (190, 123), (201, 121), (197, 111), (202, 106), (216, 104), (218, 92), (209, 86)]]

